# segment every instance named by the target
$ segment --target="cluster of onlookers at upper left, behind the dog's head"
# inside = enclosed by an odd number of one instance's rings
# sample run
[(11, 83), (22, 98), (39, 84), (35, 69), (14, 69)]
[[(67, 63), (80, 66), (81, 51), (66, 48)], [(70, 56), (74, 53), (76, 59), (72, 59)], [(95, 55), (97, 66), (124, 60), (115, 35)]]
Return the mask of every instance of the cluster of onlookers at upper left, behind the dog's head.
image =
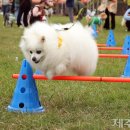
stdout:
[(36, 21), (44, 21), (45, 10), (53, 7), (53, 0), (2, 0), (3, 18), (13, 13), (18, 27), (27, 27)]

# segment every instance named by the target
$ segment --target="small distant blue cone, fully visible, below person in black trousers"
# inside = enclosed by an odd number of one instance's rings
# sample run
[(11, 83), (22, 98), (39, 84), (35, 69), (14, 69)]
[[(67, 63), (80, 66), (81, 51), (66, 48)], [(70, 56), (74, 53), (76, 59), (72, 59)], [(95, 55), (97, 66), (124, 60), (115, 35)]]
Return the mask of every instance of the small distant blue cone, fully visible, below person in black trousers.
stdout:
[(116, 41), (115, 41), (115, 36), (114, 36), (113, 30), (109, 31), (108, 38), (106, 41), (106, 46), (107, 47), (116, 46)]

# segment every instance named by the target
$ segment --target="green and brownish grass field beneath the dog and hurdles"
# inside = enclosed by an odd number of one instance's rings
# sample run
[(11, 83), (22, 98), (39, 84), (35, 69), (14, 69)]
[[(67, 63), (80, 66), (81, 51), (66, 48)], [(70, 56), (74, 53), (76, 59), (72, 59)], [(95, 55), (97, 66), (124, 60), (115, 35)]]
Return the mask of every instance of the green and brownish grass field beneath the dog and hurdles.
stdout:
[[(53, 16), (49, 21), (66, 23), (68, 18)], [(125, 28), (120, 26), (120, 22), (121, 17), (116, 17), (114, 34), (117, 46), (122, 46), (126, 35), (129, 35)], [(85, 21), (82, 23), (85, 24)], [(24, 58), (19, 49), (22, 32), (23, 29), (17, 28), (16, 25), (13, 28), (3, 27), (0, 17), (0, 130), (130, 129), (129, 83), (36, 81), (45, 112), (35, 114), (8, 112), (7, 106), (11, 102), (16, 86), (16, 79), (12, 79), (11, 75), (19, 73)], [(108, 31), (103, 30), (97, 38), (97, 43), (105, 43), (107, 36)], [(126, 59), (99, 59), (94, 75), (120, 77), (125, 63)], [(113, 119), (117, 119), (118, 122), (122, 119), (127, 125), (121, 126), (121, 122), (114, 125)]]

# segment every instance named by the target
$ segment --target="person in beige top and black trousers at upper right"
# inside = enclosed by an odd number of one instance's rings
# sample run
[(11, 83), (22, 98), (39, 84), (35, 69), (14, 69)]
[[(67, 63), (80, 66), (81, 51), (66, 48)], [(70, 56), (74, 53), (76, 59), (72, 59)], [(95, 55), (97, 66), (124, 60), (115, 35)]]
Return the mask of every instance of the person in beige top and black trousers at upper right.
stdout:
[[(115, 29), (115, 15), (117, 12), (117, 0), (108, 0), (105, 13), (107, 18), (105, 20), (105, 29)], [(110, 19), (111, 17), (111, 19)]]

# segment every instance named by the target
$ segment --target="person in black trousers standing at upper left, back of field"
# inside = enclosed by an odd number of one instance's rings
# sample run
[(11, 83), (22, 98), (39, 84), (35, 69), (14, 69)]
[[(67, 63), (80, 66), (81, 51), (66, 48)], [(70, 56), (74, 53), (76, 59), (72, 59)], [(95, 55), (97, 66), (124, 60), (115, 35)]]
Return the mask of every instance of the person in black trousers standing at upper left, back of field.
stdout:
[(20, 0), (19, 12), (17, 16), (18, 27), (21, 27), (22, 24), (24, 27), (28, 26), (27, 17), (30, 10), (31, 10), (31, 0)]

